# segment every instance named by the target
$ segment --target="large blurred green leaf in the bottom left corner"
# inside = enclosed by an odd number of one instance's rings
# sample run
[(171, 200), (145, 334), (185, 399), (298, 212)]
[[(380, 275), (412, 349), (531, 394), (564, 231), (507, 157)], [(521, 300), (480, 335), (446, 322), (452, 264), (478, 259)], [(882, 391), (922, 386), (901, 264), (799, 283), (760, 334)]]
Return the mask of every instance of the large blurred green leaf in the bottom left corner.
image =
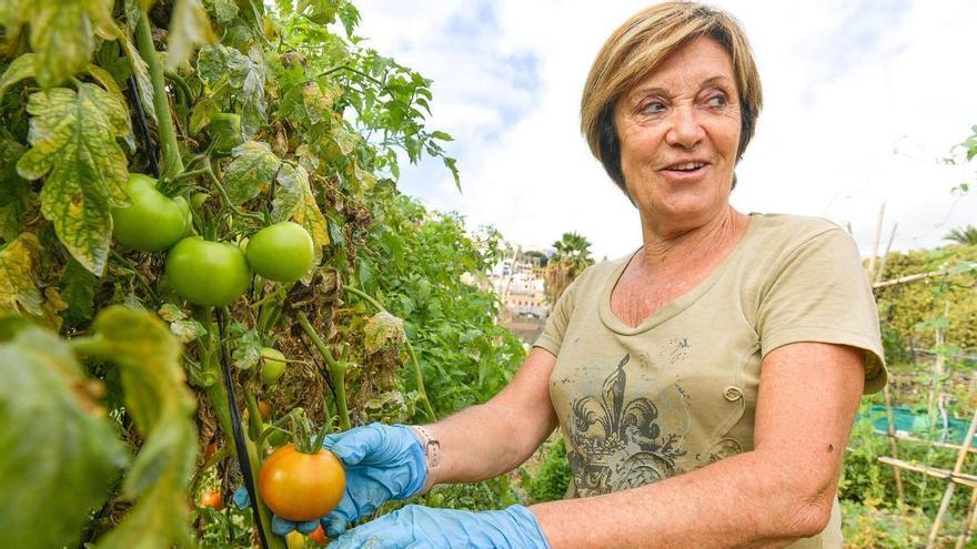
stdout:
[(0, 547), (78, 546), (124, 447), (53, 334), (28, 326), (0, 343)]

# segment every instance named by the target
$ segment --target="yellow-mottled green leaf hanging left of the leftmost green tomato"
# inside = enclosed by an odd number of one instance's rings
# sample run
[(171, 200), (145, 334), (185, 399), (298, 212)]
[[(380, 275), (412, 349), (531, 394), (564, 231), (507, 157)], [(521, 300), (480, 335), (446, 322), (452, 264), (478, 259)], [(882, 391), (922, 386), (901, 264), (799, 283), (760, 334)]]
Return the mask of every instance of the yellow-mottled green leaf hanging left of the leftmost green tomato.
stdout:
[(41, 213), (85, 268), (101, 276), (112, 236), (110, 209), (128, 200), (125, 154), (115, 139), (129, 132), (129, 111), (94, 84), (31, 94), (28, 151), (17, 171), (28, 180), (47, 174)]

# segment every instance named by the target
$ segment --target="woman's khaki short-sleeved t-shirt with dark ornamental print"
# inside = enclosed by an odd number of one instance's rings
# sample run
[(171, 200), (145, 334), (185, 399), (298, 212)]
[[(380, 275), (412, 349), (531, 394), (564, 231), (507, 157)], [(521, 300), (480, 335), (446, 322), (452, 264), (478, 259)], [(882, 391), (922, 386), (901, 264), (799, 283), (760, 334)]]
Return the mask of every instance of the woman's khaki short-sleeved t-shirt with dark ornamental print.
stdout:
[[(629, 327), (611, 311), (611, 291), (636, 253), (584, 271), (534, 344), (556, 356), (550, 394), (572, 471), (567, 497), (752, 450), (761, 363), (777, 347), (863, 348), (865, 393), (885, 385), (872, 288), (855, 242), (837, 225), (751, 214), (705, 282)], [(842, 547), (837, 498), (824, 532), (790, 547)]]

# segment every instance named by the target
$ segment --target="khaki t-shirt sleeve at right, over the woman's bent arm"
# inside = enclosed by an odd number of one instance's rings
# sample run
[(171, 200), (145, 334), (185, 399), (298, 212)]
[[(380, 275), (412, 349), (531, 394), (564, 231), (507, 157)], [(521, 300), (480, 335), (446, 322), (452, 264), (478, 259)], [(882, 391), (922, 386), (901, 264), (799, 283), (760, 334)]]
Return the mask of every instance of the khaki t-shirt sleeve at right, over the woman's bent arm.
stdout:
[(855, 241), (839, 227), (798, 246), (763, 295), (757, 316), (761, 353), (820, 342), (865, 350), (865, 394), (886, 384), (878, 308)]

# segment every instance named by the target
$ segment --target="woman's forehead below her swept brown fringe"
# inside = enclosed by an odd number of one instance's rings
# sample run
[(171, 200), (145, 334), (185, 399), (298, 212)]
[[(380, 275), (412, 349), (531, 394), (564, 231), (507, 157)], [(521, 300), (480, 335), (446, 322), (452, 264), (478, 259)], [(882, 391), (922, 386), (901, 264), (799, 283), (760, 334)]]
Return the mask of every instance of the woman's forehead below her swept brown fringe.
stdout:
[(697, 88), (717, 77), (727, 79), (731, 84), (735, 82), (733, 60), (718, 42), (702, 37), (665, 58), (632, 92), (648, 88), (679, 92), (685, 88)]

